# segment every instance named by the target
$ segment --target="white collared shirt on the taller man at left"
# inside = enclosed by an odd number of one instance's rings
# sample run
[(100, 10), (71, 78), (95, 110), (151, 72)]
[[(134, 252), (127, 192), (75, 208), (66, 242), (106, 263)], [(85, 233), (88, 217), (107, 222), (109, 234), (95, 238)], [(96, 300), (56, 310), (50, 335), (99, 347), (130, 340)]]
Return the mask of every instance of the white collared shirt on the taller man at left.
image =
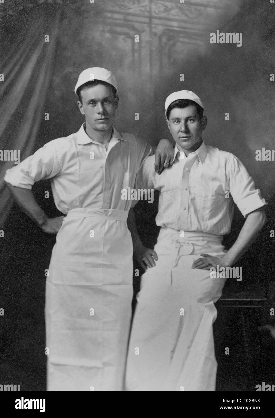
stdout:
[(66, 138), (46, 143), (7, 170), (5, 181), (31, 189), (35, 181), (50, 178), (54, 202), (64, 214), (82, 207), (128, 211), (132, 202), (122, 200), (121, 190), (134, 186), (136, 173), (153, 148), (113, 128), (106, 150), (89, 138), (84, 126)]

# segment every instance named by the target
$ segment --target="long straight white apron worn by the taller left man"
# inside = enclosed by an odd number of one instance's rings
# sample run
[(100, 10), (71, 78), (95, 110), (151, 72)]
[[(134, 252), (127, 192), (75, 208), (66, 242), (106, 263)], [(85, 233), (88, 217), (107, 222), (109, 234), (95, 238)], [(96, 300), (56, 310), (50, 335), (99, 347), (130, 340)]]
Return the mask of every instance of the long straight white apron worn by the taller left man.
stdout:
[(46, 280), (47, 390), (122, 390), (132, 301), (127, 211), (72, 209)]

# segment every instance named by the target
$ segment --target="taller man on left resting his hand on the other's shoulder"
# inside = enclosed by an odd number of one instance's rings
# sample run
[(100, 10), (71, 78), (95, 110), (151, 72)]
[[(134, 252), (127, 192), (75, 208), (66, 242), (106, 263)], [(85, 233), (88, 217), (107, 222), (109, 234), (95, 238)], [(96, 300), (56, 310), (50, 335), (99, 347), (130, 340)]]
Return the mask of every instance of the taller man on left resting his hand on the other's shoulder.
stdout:
[[(113, 127), (118, 96), (110, 71), (84, 70), (74, 91), (85, 115), (79, 131), (46, 143), (5, 181), (28, 216), (57, 234), (46, 280), (47, 390), (122, 390), (133, 269), (131, 201), (121, 190), (134, 186), (153, 152)], [(170, 161), (173, 146), (164, 141), (160, 159)], [(49, 219), (36, 203), (32, 185), (46, 178), (66, 216)]]

